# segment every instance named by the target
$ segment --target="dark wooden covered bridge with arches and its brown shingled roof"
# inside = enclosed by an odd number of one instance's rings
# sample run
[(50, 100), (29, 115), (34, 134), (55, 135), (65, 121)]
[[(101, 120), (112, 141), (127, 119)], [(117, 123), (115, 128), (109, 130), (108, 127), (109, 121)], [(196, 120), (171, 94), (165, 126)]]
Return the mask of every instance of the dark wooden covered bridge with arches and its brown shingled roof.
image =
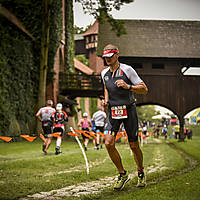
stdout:
[(184, 76), (183, 67), (200, 67), (200, 21), (124, 20), (120, 38), (109, 24), (99, 27), (98, 55), (109, 43), (119, 47), (120, 62), (130, 64), (149, 88), (137, 104), (172, 110), (183, 132), (184, 115), (200, 106), (200, 77)]

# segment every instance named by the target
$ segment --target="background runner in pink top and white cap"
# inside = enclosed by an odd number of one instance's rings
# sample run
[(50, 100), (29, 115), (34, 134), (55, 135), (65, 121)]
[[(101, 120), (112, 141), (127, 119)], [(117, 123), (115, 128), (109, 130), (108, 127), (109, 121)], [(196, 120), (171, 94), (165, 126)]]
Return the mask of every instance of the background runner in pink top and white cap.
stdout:
[[(81, 127), (82, 131), (89, 131), (89, 128), (92, 127), (92, 123), (88, 119), (88, 114), (86, 112), (83, 113), (83, 118), (79, 120), (78, 126)], [(82, 137), (83, 137), (83, 144), (84, 144), (85, 151), (87, 151), (89, 138), (86, 137), (83, 133), (82, 133)]]

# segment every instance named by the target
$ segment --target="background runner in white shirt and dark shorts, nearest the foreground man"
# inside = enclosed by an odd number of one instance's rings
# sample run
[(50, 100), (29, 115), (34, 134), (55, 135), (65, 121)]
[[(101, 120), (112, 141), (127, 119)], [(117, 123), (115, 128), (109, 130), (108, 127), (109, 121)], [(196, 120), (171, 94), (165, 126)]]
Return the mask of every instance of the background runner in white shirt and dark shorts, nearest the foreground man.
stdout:
[(103, 136), (99, 135), (98, 132), (103, 133), (104, 132), (104, 124), (106, 120), (106, 113), (103, 111), (102, 106), (98, 107), (98, 111), (95, 112), (92, 116), (92, 120), (95, 123), (96, 126), (96, 133), (97, 133), (97, 139), (96, 139), (96, 147), (97, 150), (99, 150), (99, 144), (101, 144), (101, 149), (103, 148)]

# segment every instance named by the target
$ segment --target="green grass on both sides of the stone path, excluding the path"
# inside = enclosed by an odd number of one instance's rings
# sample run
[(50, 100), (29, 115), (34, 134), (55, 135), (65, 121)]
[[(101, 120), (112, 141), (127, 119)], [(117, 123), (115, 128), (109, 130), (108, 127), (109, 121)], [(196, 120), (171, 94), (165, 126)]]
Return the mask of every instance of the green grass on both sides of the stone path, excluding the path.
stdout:
[[(199, 138), (194, 138), (187, 143), (176, 143), (180, 148), (185, 148), (199, 158)], [(94, 151), (90, 143), (87, 157), (90, 164), (99, 163), (90, 169), (90, 175), (86, 175), (85, 163), (76, 142), (64, 142), (63, 154), (54, 155), (55, 141), (49, 149), (47, 156), (41, 152), (41, 142), (35, 141), (19, 143), (0, 144), (0, 199), (16, 199), (41, 191), (58, 189), (81, 182), (98, 180), (105, 176), (113, 176), (117, 171), (106, 150)], [(117, 144), (117, 148), (123, 158), (125, 168), (134, 173), (136, 170), (133, 156), (130, 155), (128, 145)], [(160, 166), (168, 167), (148, 175), (149, 186), (142, 190), (135, 189), (136, 180), (130, 181), (125, 190), (120, 193), (113, 192), (108, 188), (103, 194), (81, 197), (81, 199), (193, 199), (198, 197), (199, 169), (191, 173), (181, 175), (174, 179), (162, 181), (159, 184), (151, 184), (157, 177), (162, 177), (180, 170), (184, 167), (182, 157), (165, 143), (148, 144), (142, 147), (144, 152), (144, 163), (146, 168)], [(102, 162), (104, 161), (104, 162)], [(79, 172), (73, 171), (80, 169)], [(159, 169), (159, 168), (158, 168)], [(72, 170), (71, 173), (56, 174), (60, 171)], [(46, 175), (46, 176), (44, 176)], [(192, 177), (192, 178), (191, 178)], [(174, 185), (174, 183), (177, 183)], [(180, 189), (184, 193), (180, 193)], [(133, 191), (134, 190), (134, 191)], [(195, 196), (196, 195), (196, 196)], [(69, 199), (69, 198), (67, 198)], [(75, 198), (70, 198), (75, 199)]]

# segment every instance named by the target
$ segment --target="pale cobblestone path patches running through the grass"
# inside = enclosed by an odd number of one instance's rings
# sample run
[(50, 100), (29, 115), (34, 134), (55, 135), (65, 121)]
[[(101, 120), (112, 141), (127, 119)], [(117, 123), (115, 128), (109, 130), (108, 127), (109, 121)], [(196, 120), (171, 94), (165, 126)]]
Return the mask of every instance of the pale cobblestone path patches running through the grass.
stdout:
[[(160, 141), (157, 140), (155, 142), (160, 142)], [(165, 165), (164, 157), (160, 154), (159, 148), (155, 152), (153, 160), (154, 160), (154, 165), (146, 168), (147, 174), (153, 173), (155, 171), (162, 171), (162, 170), (167, 169), (167, 167), (164, 166)], [(102, 162), (93, 163), (91, 166), (97, 166), (99, 164), (102, 164), (105, 161), (106, 159), (104, 159)], [(80, 170), (80, 167), (77, 168), (76, 170)], [(68, 170), (58, 172), (58, 174), (61, 174), (61, 173), (68, 173)], [(48, 175), (53, 175), (53, 174), (48, 174)], [(136, 173), (132, 173), (130, 174), (130, 178), (134, 179), (136, 178), (136, 175), (137, 175)], [(82, 195), (97, 194), (97, 193), (102, 192), (105, 188), (112, 187), (116, 178), (117, 178), (116, 176), (104, 177), (96, 181), (79, 183), (77, 185), (70, 185), (61, 189), (51, 190), (49, 192), (40, 192), (33, 195), (28, 195), (25, 198), (21, 198), (21, 200), (30, 200), (30, 199), (49, 199), (49, 200), (54, 199), (55, 200), (55, 199), (63, 199), (63, 197), (73, 197), (73, 196), (80, 197)]]

